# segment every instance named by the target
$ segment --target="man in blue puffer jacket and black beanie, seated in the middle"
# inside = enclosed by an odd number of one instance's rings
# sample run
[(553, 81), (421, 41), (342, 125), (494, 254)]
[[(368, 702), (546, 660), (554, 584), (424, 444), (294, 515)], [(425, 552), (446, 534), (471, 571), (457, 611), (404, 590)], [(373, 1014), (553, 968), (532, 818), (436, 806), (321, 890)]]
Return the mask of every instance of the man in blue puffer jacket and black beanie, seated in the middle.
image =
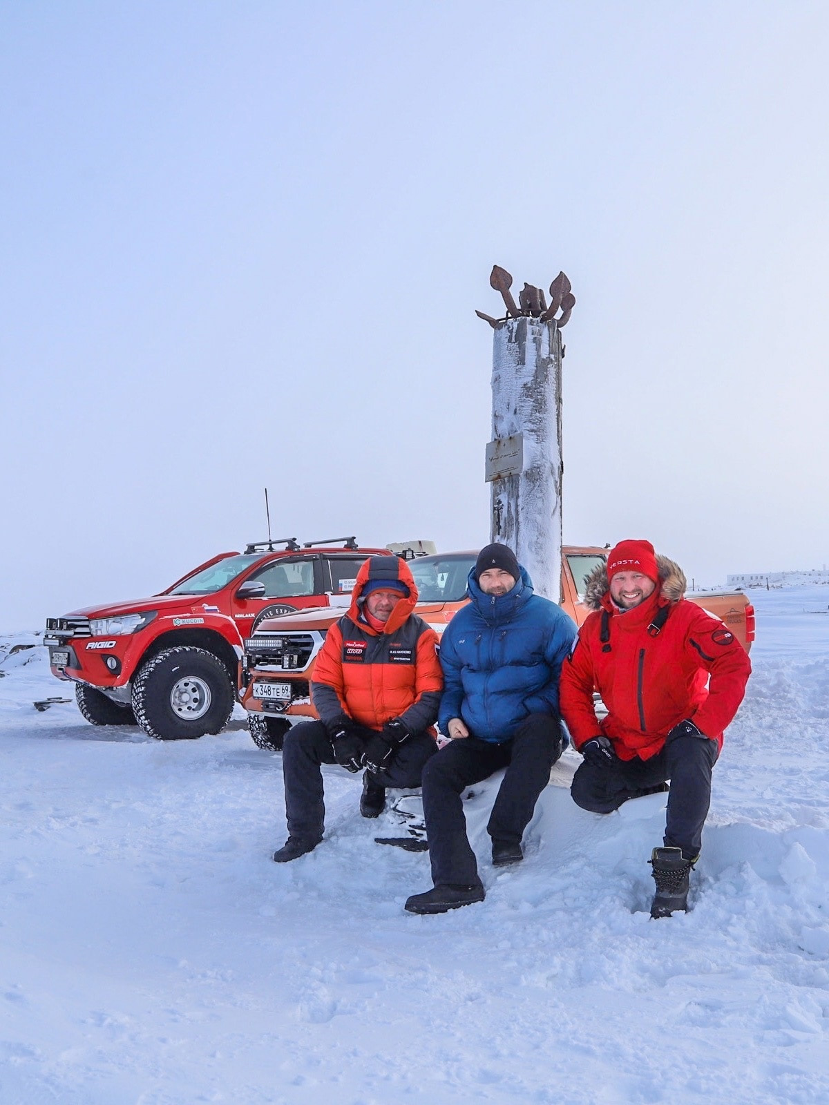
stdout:
[(533, 593), (505, 545), (487, 545), (469, 575), (472, 600), (443, 633), (444, 691), (438, 724), (450, 738), (423, 769), (423, 814), (434, 886), (413, 894), (409, 913), (445, 913), (482, 902), (461, 794), (505, 767), (486, 827), (495, 866), (524, 859), (521, 841), (565, 736), (558, 676), (576, 625)]

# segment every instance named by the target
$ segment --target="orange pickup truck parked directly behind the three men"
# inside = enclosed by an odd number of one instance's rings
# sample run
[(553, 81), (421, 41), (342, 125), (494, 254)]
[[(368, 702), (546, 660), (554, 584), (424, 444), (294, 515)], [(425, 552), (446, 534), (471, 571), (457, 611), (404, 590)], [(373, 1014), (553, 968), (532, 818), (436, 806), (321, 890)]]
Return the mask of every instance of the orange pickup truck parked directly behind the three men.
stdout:
[[(442, 633), (465, 606), (466, 577), (476, 550), (439, 552), (410, 561), (420, 594), (416, 612)], [(589, 611), (584, 606), (585, 580), (607, 559), (607, 549), (594, 545), (562, 548), (559, 603), (580, 625)], [(746, 652), (754, 640), (754, 607), (742, 591), (705, 591), (686, 594), (692, 602), (721, 618)], [(311, 681), (316, 655), (328, 628), (343, 615), (340, 608), (323, 608), (264, 619), (244, 642), (239, 699), (248, 712), (251, 736), (260, 748), (281, 748), (291, 719), (316, 717)]]

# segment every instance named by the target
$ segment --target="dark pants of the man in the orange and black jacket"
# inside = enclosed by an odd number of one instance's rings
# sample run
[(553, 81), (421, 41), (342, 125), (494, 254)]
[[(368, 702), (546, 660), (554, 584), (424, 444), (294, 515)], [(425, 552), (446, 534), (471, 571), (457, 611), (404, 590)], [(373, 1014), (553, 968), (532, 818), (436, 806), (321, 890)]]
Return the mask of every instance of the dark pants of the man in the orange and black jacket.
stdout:
[[(395, 748), (378, 787), (419, 787), (423, 765), (438, 750), (434, 740), (416, 733)], [(285, 782), (287, 831), (300, 840), (321, 841), (325, 822), (321, 764), (336, 764), (334, 747), (322, 722), (301, 722), (285, 734), (282, 775)]]

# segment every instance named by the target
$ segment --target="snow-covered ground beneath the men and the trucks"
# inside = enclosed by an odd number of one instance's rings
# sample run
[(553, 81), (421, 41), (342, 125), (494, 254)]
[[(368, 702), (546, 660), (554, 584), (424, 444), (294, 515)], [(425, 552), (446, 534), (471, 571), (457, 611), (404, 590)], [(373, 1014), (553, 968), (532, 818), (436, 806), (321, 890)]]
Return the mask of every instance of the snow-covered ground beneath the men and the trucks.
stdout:
[(67, 684), (0, 638), (0, 1105), (829, 1102), (829, 599), (752, 598), (693, 909), (660, 922), (663, 797), (578, 810), (573, 753), (518, 869), (476, 788), (486, 901), (413, 917), (428, 856), (374, 843), (358, 777), (277, 866), (279, 754), (39, 713)]

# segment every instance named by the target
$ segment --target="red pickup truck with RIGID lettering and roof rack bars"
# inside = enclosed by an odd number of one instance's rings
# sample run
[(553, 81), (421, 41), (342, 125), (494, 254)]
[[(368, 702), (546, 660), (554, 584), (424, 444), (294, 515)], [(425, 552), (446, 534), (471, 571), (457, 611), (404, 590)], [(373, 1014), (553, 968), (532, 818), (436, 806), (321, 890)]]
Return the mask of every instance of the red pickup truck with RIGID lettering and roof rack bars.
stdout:
[(150, 598), (48, 619), (52, 674), (74, 682), (93, 725), (137, 723), (160, 740), (219, 733), (233, 709), (242, 638), (274, 614), (336, 603), (372, 555), (388, 550), (359, 549), (354, 537), (220, 552)]

